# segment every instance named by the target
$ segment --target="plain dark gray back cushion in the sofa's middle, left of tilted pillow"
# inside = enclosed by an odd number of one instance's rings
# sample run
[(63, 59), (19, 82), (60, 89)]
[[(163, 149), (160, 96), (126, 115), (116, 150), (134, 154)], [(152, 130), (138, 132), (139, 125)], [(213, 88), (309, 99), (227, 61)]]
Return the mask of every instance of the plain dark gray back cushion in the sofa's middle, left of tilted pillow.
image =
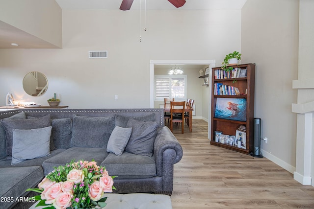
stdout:
[(71, 147), (107, 148), (114, 117), (73, 116)]

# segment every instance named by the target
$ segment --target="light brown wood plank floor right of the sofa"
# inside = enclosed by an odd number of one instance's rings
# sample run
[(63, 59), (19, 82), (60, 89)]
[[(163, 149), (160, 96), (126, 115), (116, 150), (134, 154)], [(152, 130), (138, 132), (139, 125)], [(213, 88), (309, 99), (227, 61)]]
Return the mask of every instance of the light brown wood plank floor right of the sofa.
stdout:
[(174, 128), (183, 158), (174, 165), (173, 209), (314, 209), (314, 187), (266, 158), (209, 144), (208, 123)]

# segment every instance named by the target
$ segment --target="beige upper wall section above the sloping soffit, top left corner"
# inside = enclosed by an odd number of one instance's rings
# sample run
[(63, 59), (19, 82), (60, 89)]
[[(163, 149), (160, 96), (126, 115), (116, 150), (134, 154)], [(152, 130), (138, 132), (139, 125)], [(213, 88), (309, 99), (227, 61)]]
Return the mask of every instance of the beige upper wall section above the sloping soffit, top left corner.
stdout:
[(0, 0), (0, 5), (0, 21), (62, 47), (62, 11), (55, 0)]

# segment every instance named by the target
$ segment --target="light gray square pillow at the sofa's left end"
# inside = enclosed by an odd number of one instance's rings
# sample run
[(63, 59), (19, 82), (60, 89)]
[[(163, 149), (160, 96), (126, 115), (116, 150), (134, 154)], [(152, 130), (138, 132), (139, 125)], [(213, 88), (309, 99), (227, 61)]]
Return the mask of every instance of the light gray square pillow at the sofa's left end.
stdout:
[(51, 129), (51, 126), (30, 130), (13, 129), (11, 165), (50, 155)]

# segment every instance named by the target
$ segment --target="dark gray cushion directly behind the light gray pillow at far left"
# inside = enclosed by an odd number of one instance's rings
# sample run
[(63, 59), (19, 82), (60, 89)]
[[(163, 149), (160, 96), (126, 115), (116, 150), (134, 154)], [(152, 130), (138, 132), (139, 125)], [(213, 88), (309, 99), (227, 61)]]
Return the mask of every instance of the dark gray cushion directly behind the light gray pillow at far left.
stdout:
[(30, 119), (1, 120), (1, 123), (6, 132), (7, 155), (12, 155), (13, 129), (34, 129), (51, 126), (50, 115)]

